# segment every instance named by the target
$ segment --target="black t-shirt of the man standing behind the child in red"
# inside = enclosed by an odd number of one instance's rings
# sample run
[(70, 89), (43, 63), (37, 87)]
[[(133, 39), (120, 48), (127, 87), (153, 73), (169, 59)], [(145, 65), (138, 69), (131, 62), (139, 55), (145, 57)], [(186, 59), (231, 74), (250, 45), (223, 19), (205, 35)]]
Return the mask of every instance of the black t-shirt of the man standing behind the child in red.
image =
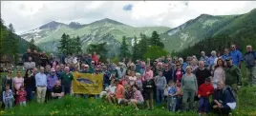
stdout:
[(207, 68), (204, 68), (203, 70), (198, 68), (195, 70), (195, 75), (198, 80), (198, 87), (200, 87), (201, 85), (204, 84), (205, 78), (208, 78), (211, 76), (211, 72)]

